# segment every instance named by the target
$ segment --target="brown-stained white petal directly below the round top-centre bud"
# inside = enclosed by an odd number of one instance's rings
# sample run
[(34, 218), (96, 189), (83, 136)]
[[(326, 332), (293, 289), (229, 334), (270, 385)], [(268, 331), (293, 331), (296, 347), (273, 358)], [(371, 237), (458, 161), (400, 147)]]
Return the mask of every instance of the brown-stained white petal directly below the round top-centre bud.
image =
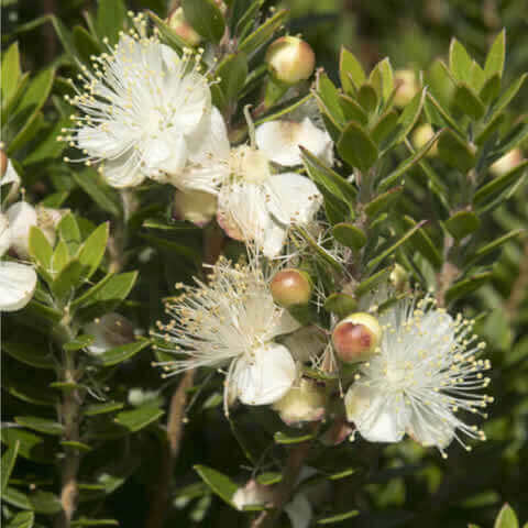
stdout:
[(315, 127), (309, 118), (301, 122), (268, 121), (256, 128), (255, 140), (258, 148), (279, 165), (300, 165), (302, 160), (299, 146), (304, 146), (329, 165), (333, 164), (333, 142), (330, 135)]

